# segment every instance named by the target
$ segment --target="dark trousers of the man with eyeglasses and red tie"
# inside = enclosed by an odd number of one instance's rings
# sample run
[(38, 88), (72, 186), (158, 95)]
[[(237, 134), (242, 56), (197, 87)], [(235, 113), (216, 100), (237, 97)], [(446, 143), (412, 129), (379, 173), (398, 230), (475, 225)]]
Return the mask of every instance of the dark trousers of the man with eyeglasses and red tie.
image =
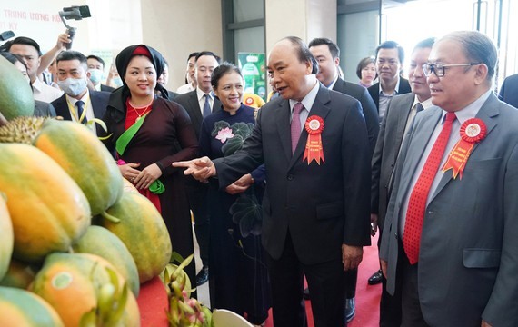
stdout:
[(424, 322), (419, 292), (417, 289), (417, 267), (419, 263), (410, 264), (403, 250), (403, 243), (399, 243), (399, 255), (396, 275), (401, 276), (402, 298), (402, 327), (429, 327)]

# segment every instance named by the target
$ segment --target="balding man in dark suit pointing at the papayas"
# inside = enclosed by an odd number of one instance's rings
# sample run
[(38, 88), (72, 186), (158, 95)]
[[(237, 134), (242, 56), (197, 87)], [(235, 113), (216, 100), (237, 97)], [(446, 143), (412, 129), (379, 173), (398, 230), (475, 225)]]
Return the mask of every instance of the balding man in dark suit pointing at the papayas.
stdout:
[(214, 163), (206, 157), (174, 163), (199, 180), (217, 171), (222, 188), (264, 163), (262, 243), (274, 325), (280, 327), (304, 326), (304, 275), (314, 325), (344, 326), (344, 270), (358, 266), (363, 246), (370, 243), (369, 144), (362, 108), (320, 84), (317, 70), (301, 39), (279, 41), (269, 54), (268, 74), (281, 97), (259, 111), (243, 149)]

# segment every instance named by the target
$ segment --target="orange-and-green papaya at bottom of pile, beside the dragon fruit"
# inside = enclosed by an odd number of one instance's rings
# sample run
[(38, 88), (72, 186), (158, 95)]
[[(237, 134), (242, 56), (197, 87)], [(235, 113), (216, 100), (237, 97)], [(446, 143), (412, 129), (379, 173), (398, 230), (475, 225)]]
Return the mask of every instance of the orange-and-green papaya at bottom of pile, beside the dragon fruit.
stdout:
[(125, 282), (111, 263), (95, 254), (52, 253), (31, 291), (54, 307), (68, 327), (138, 326), (138, 305)]

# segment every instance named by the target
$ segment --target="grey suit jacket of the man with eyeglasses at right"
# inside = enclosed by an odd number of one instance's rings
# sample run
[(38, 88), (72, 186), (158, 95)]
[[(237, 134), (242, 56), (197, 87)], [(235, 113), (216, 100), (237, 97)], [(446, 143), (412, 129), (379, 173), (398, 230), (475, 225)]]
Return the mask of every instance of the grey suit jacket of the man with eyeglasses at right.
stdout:
[[(388, 261), (388, 292), (403, 199), (441, 116), (433, 107), (415, 117), (397, 163), (380, 253)], [(424, 215), (417, 287), (431, 326), (480, 326), (481, 317), (518, 326), (518, 111), (491, 94), (477, 118), (487, 136), (474, 144), (462, 179), (444, 173)]]

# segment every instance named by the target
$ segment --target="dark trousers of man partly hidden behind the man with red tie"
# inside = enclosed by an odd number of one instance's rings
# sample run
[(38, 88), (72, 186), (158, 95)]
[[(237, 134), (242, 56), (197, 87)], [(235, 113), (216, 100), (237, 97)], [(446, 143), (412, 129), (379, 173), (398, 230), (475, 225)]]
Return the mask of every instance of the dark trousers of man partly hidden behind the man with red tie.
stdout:
[[(378, 249), (380, 248), (381, 240), (382, 230), (380, 229), (380, 234), (378, 236)], [(405, 255), (404, 251), (403, 255)], [(401, 281), (402, 276), (399, 273), (396, 274), (395, 292), (393, 295), (391, 295), (389, 292), (387, 292), (386, 278), (384, 276), (382, 278), (382, 296), (380, 299), (380, 327), (401, 326)]]

